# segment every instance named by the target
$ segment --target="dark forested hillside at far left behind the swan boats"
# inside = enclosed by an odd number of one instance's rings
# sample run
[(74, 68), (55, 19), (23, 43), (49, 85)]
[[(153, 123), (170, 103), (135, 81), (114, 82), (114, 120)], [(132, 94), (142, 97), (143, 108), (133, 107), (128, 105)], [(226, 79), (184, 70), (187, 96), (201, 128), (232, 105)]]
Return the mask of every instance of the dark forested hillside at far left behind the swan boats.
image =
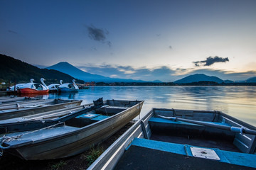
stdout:
[[(13, 57), (0, 54), (0, 79), (18, 83), (27, 83), (30, 79), (41, 82), (43, 77), (46, 84), (59, 83), (60, 79), (64, 82), (72, 82), (74, 77), (56, 70), (39, 69), (31, 64), (16, 60)], [(78, 81), (79, 82), (79, 81)], [(82, 82), (82, 81), (80, 81)]]

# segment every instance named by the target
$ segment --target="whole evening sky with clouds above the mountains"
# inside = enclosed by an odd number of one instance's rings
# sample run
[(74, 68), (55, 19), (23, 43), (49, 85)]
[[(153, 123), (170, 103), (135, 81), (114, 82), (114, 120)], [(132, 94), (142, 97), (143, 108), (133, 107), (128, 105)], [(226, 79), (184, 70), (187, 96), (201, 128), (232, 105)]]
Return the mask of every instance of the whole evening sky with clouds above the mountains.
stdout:
[(0, 0), (0, 54), (92, 74), (256, 76), (255, 0)]

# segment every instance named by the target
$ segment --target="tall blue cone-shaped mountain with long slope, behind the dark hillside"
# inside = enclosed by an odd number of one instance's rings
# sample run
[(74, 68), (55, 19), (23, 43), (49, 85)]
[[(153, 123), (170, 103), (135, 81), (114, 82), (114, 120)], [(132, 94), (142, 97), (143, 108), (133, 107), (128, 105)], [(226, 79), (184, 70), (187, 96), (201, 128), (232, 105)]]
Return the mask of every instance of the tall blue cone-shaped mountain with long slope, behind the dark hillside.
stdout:
[(46, 69), (55, 69), (65, 74), (69, 74), (72, 77), (77, 79), (82, 79), (83, 81), (95, 81), (95, 82), (144, 82), (142, 80), (134, 80), (134, 79), (116, 79), (110, 77), (104, 77), (98, 74), (90, 74), (88, 72), (84, 72), (81, 69), (69, 64), (68, 62), (59, 62), (58, 64), (54, 64), (53, 66), (46, 67)]

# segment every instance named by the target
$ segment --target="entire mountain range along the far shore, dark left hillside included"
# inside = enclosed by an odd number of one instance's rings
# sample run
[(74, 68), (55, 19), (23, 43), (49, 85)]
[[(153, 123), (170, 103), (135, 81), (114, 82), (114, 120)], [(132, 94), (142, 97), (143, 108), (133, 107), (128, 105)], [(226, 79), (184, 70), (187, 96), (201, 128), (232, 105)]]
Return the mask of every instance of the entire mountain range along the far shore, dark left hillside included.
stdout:
[[(134, 80), (134, 79), (116, 79), (110, 77), (104, 77), (97, 74), (90, 74), (83, 72), (82, 70), (74, 67), (68, 62), (59, 62), (46, 69), (39, 69), (31, 64), (16, 60), (13, 57), (0, 54), (0, 80), (1, 81), (16, 81), (16, 83), (28, 82), (30, 79), (40, 81), (41, 77), (45, 78), (46, 84), (58, 83), (60, 79), (64, 82), (71, 82), (72, 79), (77, 79), (79, 83), (83, 81), (90, 82), (124, 82), (124, 83), (146, 83), (148, 81)], [(193, 74), (183, 79), (174, 81), (174, 84), (191, 84), (199, 81), (209, 81), (218, 84), (221, 83), (237, 83), (231, 80), (222, 80), (218, 77), (210, 77), (205, 74)], [(162, 83), (159, 80), (151, 81), (151, 83)], [(256, 77), (251, 77), (245, 81), (239, 81), (239, 83), (256, 83)]]

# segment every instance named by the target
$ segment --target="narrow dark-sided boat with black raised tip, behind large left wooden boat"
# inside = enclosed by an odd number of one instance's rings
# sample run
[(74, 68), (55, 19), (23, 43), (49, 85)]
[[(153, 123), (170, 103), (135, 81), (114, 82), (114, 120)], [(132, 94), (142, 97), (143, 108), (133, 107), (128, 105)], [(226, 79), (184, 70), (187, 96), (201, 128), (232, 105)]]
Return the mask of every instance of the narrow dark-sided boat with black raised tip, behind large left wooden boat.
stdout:
[(102, 98), (99, 98), (94, 104), (88, 103), (80, 106), (56, 109), (54, 111), (25, 115), (18, 118), (0, 120), (0, 134), (46, 128), (50, 125), (65, 122), (78, 115), (93, 111), (100, 108), (102, 104)]

